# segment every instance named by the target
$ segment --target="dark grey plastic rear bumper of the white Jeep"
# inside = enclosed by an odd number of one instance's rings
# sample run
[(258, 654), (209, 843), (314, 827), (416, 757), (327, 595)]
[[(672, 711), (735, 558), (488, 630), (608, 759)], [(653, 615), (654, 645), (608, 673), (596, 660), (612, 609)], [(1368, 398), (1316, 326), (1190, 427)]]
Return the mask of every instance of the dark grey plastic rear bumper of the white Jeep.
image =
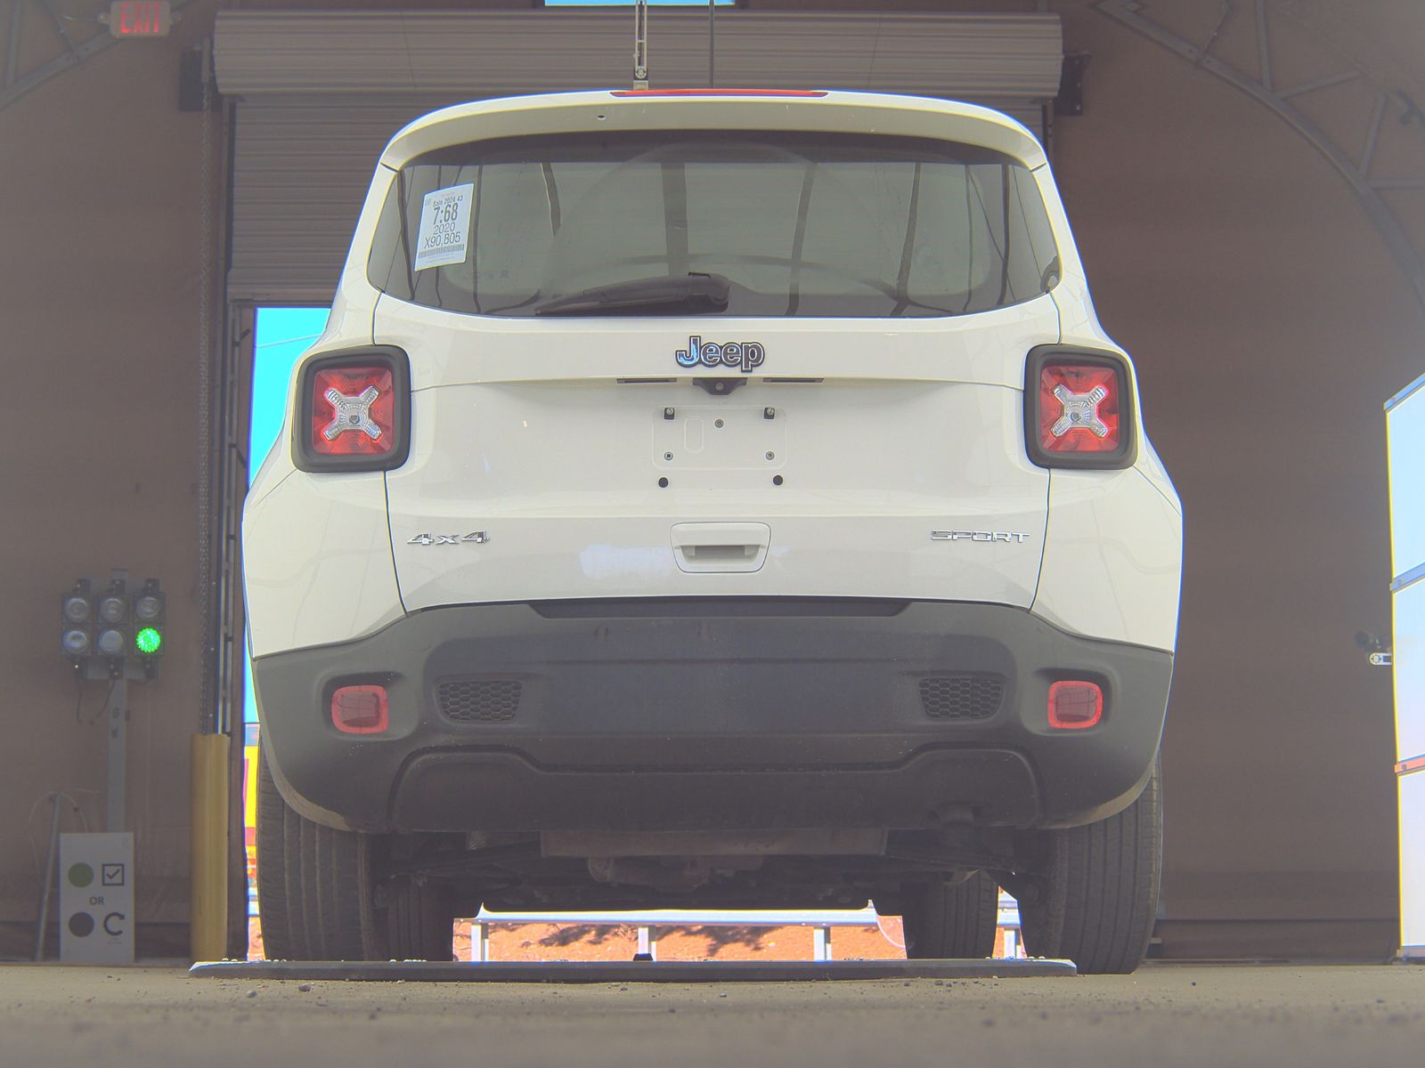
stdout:
[[(785, 598), (440, 608), (254, 662), (288, 802), (369, 832), (1087, 823), (1146, 782), (1171, 672), (1016, 608)], [(1097, 726), (1049, 728), (1063, 678)], [(386, 732), (332, 725), (358, 684)]]

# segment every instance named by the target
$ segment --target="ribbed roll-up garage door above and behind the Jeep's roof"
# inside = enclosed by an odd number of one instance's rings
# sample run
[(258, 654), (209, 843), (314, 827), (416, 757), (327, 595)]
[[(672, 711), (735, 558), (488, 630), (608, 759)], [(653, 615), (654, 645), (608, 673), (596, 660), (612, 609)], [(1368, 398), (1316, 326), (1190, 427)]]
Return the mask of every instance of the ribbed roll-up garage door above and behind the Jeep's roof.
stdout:
[[(656, 10), (654, 87), (707, 83), (707, 16)], [(724, 11), (717, 84), (970, 100), (1032, 130), (1059, 90), (1057, 16)], [(628, 10), (219, 13), (218, 88), (239, 97), (228, 296), (331, 300), (385, 142), (446, 104), (628, 83)]]

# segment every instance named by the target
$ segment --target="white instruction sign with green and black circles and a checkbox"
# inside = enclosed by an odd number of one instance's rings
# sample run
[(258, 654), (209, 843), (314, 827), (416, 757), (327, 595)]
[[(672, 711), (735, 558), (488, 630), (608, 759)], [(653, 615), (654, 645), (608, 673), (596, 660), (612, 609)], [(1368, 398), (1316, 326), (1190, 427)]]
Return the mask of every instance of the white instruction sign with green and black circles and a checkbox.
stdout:
[(60, 960), (134, 963), (134, 836), (60, 834)]

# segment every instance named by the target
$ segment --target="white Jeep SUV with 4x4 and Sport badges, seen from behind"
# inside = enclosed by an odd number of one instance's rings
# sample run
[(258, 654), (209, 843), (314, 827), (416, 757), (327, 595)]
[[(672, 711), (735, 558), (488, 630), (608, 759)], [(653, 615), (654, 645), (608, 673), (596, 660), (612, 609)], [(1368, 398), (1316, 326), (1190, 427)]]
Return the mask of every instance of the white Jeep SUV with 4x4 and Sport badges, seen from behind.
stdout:
[(1045, 151), (913, 97), (402, 130), (244, 517), (268, 954), (846, 907), (1130, 971), (1177, 496)]

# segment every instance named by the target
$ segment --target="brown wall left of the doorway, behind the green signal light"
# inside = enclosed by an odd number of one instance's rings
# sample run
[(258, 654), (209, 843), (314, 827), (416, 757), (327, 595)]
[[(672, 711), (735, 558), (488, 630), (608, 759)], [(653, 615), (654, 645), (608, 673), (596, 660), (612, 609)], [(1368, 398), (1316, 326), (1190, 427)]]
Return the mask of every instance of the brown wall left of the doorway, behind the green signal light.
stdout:
[[(27, 7), (21, 70), (58, 53)], [(58, 595), (113, 567), (168, 592), (162, 676), (130, 688), (128, 813), (140, 951), (187, 953), (202, 263), (200, 115), (177, 85), (205, 21), (192, 7), (172, 37), (115, 43), (0, 111), (0, 956), (33, 951), (46, 795), (80, 803), (64, 830), (104, 829), (105, 686), (77, 711)]]

